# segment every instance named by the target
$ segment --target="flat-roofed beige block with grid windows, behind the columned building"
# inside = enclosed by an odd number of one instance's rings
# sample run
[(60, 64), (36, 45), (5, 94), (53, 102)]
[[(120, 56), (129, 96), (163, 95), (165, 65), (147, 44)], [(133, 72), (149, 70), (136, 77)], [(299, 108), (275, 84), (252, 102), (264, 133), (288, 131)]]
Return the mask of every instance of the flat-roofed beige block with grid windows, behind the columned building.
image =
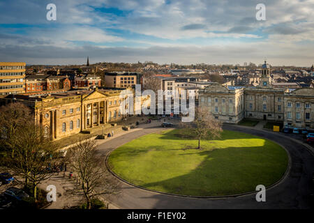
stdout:
[(137, 84), (136, 72), (105, 72), (105, 86), (110, 88), (132, 88)]

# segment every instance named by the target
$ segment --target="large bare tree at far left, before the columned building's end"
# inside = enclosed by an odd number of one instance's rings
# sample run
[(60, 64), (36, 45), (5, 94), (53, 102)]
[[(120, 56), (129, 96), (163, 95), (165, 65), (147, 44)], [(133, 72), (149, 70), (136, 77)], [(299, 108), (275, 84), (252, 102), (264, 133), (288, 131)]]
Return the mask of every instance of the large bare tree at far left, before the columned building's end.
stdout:
[(57, 148), (33, 120), (18, 128), (8, 141), (15, 149), (14, 157), (8, 157), (8, 167), (24, 178), (25, 187), (31, 188), (36, 201), (38, 185), (52, 176), (51, 169), (58, 163)]

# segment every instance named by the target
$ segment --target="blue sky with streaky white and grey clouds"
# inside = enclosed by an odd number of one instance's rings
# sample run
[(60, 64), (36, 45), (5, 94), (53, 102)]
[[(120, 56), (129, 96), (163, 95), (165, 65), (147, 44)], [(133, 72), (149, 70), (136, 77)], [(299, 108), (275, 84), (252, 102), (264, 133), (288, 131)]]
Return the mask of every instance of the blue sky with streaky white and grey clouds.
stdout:
[(0, 61), (309, 67), (313, 10), (314, 0), (0, 0)]

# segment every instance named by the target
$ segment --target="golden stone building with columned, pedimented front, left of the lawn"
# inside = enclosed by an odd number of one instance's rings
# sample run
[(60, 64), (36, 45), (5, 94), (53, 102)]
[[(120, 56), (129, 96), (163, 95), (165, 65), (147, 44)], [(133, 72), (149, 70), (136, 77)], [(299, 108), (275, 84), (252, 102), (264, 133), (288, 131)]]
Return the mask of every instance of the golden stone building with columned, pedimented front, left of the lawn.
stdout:
[[(122, 89), (95, 89), (50, 94), (42, 92), (41, 95), (10, 95), (2, 98), (1, 103), (22, 102), (31, 107), (35, 122), (42, 126), (45, 134), (56, 140), (124, 118), (120, 105), (128, 105), (121, 104), (124, 101), (120, 98), (121, 91)], [(126, 97), (127, 95), (124, 96)]]

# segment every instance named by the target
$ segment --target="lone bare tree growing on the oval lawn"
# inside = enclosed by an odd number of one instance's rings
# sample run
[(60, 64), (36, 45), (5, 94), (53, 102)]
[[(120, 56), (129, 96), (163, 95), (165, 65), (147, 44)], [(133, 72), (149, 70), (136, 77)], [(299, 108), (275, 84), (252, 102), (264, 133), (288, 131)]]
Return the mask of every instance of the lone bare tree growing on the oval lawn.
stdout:
[(186, 124), (186, 128), (190, 130), (198, 139), (198, 149), (201, 150), (201, 139), (216, 139), (220, 137), (222, 132), (220, 121), (216, 120), (211, 112), (204, 107), (195, 108), (195, 118), (192, 122)]

